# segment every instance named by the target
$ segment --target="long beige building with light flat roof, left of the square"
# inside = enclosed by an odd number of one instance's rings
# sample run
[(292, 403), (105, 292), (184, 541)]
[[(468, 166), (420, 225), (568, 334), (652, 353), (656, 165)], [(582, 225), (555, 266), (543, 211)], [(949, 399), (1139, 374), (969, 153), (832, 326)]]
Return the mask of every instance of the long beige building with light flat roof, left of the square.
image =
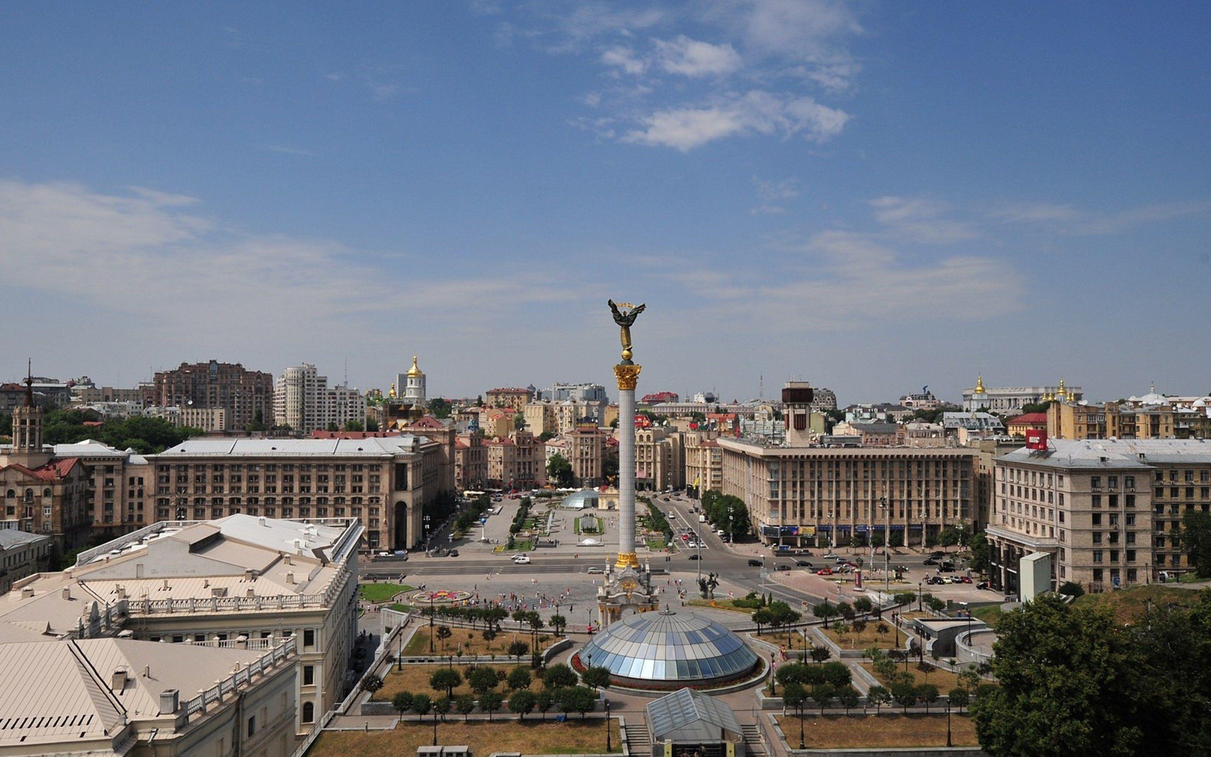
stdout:
[(438, 442), (366, 438), (193, 438), (157, 455), (155, 518), (228, 515), (355, 518), (362, 549), (420, 544), (424, 506), (448, 483)]

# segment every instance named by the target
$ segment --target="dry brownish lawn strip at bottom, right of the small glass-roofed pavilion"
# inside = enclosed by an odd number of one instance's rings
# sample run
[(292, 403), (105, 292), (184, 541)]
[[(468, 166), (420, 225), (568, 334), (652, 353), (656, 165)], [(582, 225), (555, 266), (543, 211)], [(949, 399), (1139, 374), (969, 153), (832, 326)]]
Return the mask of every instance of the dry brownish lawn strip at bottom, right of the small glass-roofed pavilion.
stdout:
[[(777, 717), (790, 746), (799, 745), (799, 718)], [(328, 734), (325, 734), (327, 736)], [(321, 736), (322, 739), (323, 736)], [(976, 746), (976, 728), (966, 715), (951, 713), (954, 746)], [(946, 746), (946, 715), (826, 715), (803, 719), (808, 749), (894, 749)]]

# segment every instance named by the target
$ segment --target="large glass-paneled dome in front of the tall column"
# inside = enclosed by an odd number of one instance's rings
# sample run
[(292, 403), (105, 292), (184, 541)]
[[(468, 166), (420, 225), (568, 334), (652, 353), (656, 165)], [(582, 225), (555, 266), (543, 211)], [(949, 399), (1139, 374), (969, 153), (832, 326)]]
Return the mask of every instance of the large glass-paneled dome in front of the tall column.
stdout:
[(761, 666), (733, 631), (695, 613), (642, 613), (616, 621), (573, 659), (606, 667), (616, 686), (679, 688), (735, 681)]

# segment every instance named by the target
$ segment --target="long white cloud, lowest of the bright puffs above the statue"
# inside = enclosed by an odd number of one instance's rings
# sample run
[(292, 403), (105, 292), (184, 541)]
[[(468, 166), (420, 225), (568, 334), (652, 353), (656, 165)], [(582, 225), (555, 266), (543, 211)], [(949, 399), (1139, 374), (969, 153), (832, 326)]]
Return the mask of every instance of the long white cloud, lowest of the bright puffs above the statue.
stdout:
[(658, 110), (639, 116), (641, 128), (627, 131), (622, 140), (682, 151), (724, 137), (753, 133), (803, 134), (807, 139), (825, 142), (840, 133), (849, 119), (845, 111), (821, 105), (810, 97), (753, 90), (708, 105)]

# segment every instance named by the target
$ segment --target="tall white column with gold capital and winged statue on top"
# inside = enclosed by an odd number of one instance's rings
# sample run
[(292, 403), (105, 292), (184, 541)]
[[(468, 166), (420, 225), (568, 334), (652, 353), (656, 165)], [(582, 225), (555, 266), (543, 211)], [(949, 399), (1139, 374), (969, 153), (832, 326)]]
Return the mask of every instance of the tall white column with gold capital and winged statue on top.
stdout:
[(643, 312), (645, 305), (633, 306), (631, 303), (609, 300), (614, 312), (614, 322), (621, 329), (622, 362), (614, 366), (618, 379), (618, 509), (619, 543), (618, 562), (614, 567), (638, 568), (639, 558), (635, 554), (635, 385), (639, 379), (639, 366), (631, 361), (631, 326)]

